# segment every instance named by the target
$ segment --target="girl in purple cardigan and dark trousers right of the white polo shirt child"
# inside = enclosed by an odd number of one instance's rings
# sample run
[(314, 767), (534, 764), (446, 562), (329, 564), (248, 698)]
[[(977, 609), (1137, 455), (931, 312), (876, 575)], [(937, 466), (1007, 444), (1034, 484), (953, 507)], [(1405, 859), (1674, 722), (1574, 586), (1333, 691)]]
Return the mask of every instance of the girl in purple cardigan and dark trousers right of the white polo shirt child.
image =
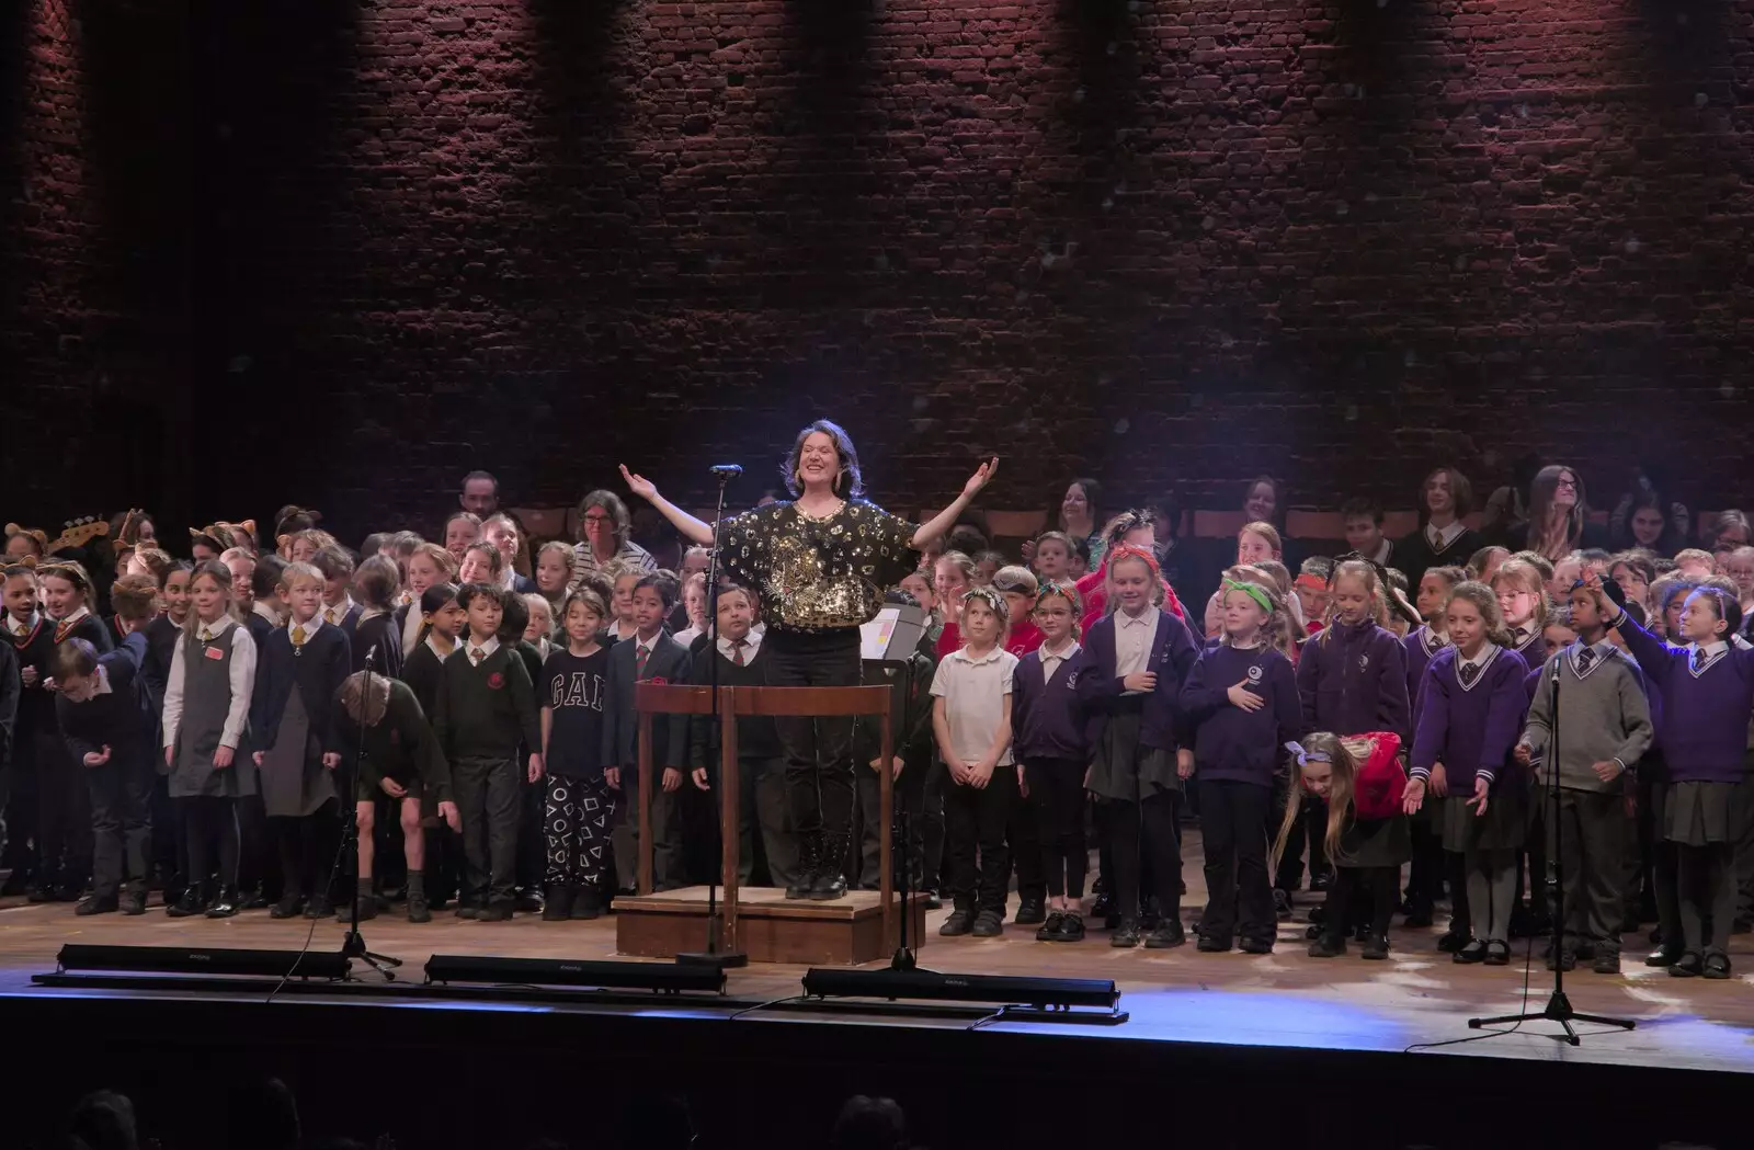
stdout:
[(1012, 728), (1017, 761), (1030, 785), (1047, 880), (1047, 920), (1035, 936), (1049, 943), (1084, 938), (1084, 768), (1089, 761), (1079, 678), (1087, 673), (1077, 640), (1079, 593), (1070, 582), (1047, 582), (1035, 594), (1035, 650), (1017, 661), (1012, 685)]

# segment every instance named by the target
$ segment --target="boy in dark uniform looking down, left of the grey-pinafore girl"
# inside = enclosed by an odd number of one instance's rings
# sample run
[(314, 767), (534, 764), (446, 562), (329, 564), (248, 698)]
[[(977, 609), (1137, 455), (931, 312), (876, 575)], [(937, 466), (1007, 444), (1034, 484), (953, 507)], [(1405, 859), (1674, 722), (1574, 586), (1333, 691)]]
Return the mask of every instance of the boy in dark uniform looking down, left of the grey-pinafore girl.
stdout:
[(140, 680), (146, 635), (135, 628), (151, 600), (125, 589), (112, 601), (126, 631), (119, 649), (100, 656), (70, 638), (54, 650), (56, 719), (91, 810), (91, 894), (77, 915), (146, 913), (158, 717)]

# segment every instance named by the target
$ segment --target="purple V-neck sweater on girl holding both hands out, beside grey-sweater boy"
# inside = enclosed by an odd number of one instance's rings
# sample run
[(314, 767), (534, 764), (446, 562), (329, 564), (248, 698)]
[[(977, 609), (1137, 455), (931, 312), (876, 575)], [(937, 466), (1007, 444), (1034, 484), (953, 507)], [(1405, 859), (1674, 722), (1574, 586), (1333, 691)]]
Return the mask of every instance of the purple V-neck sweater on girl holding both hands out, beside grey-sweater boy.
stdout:
[(1475, 775), (1486, 775), (1493, 789), (1507, 778), (1522, 780), (1526, 771), (1503, 768), (1507, 763), (1515, 766), (1510, 752), (1529, 708), (1524, 678), (1528, 664), (1500, 647), (1473, 684), (1463, 687), (1456, 677), (1456, 649), (1437, 652), (1419, 691), (1412, 777), (1430, 778), (1431, 766), (1442, 763), (1451, 794), (1472, 794)]

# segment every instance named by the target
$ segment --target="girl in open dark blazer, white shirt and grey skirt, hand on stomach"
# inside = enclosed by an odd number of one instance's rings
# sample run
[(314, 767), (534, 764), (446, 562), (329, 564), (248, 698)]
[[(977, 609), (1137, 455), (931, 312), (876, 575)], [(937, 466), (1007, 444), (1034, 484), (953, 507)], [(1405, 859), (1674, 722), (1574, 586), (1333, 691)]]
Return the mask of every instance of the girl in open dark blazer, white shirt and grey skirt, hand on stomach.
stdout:
[(1105, 566), (1114, 612), (1084, 636), (1089, 673), (1079, 677), (1079, 696), (1091, 712), (1087, 789), (1096, 796), (1119, 899), (1121, 922), (1109, 945), (1138, 945), (1140, 878), (1149, 857), (1163, 917), (1145, 945), (1179, 947), (1186, 941), (1180, 768), (1186, 761), (1193, 770), (1193, 750), (1180, 747), (1177, 729), (1182, 682), (1198, 650), (1182, 621), (1159, 607), (1163, 577), (1149, 550), (1119, 543)]

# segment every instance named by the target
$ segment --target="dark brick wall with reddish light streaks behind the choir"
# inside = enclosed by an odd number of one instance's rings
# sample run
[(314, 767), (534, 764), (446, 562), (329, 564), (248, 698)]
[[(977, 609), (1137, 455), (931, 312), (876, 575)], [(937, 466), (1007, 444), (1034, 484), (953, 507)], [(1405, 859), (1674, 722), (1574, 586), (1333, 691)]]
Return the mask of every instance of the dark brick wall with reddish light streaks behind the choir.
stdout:
[[(14, 0), (4, 501), (1754, 496), (1754, 0)], [(745, 479), (745, 496), (761, 482)]]

